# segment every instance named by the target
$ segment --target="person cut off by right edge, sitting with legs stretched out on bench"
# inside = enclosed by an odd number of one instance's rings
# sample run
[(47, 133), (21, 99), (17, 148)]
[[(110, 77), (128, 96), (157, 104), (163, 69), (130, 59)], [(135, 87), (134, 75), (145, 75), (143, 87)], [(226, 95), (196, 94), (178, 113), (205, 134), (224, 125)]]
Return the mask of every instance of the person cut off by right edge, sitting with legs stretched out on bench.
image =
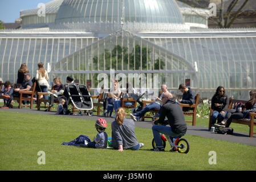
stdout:
[(256, 90), (250, 91), (250, 100), (245, 104), (246, 110), (229, 109), (224, 120), (220, 123), (215, 124), (217, 127), (229, 127), (232, 119), (245, 119), (250, 118), (249, 113), (256, 113)]

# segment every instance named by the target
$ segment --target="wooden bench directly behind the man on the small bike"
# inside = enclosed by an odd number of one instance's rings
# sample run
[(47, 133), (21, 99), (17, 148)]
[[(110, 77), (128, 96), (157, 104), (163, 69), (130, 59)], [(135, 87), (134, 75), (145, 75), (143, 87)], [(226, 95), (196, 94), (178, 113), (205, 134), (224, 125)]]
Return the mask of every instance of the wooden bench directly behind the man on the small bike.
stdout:
[[(193, 119), (192, 121), (186, 121), (188, 123), (192, 123), (192, 126), (196, 126), (196, 115), (197, 115), (197, 105), (199, 103), (200, 100), (200, 94), (197, 94), (196, 97), (194, 98), (194, 104), (179, 104), (181, 106), (181, 109), (183, 109), (183, 107), (189, 107), (189, 109), (191, 109), (191, 111), (183, 111), (184, 115), (192, 115)], [(143, 102), (143, 108), (147, 105), (150, 104), (152, 102), (155, 101), (142, 101)], [(159, 109), (155, 109), (155, 110), (151, 110), (150, 111), (153, 115), (155, 115), (156, 113), (159, 112)], [(152, 116), (143, 116), (141, 118), (141, 121), (144, 121), (144, 118), (152, 118)], [(156, 119), (156, 118), (152, 118), (152, 119)]]

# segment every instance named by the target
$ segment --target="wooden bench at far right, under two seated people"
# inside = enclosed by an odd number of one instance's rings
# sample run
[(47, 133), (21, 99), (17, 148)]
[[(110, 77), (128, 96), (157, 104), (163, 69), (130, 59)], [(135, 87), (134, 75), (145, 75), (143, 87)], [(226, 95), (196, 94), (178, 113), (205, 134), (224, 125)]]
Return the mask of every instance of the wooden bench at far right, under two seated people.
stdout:
[[(235, 106), (239, 103), (242, 102), (245, 104), (247, 101), (244, 100), (235, 100), (232, 97), (229, 98), (229, 106), (227, 107), (227, 110), (229, 109), (235, 109)], [(210, 127), (212, 126), (211, 123), (211, 117), (212, 117), (213, 110), (211, 109), (210, 115), (209, 115), (209, 130)], [(256, 125), (256, 113), (249, 113), (250, 119), (232, 119), (231, 123), (238, 123), (242, 125), (248, 125), (250, 130), (249, 130), (249, 137), (253, 137), (253, 134), (256, 134), (256, 132), (253, 132), (253, 127)]]

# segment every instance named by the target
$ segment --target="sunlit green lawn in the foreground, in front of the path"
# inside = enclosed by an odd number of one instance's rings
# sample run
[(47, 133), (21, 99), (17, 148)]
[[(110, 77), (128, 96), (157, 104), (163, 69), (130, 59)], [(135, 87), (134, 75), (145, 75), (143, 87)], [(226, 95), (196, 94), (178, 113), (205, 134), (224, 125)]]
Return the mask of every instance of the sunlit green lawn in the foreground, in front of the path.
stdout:
[[(200, 119), (198, 123), (202, 122)], [(80, 134), (93, 138), (94, 122), (62, 116), (0, 111), (0, 170), (256, 170), (256, 147), (186, 135), (188, 154), (149, 151), (151, 129), (136, 127), (145, 146), (139, 151), (97, 150), (62, 146)], [(111, 137), (111, 127), (106, 130)], [(39, 165), (38, 151), (46, 154)], [(216, 151), (217, 164), (210, 165), (209, 151)]]

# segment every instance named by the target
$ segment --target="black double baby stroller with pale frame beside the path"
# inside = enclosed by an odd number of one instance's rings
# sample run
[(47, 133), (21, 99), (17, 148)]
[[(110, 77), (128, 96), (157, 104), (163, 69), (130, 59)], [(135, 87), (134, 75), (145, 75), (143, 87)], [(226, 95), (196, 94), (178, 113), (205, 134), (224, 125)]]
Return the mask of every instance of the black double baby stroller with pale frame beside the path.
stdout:
[(90, 92), (88, 92), (87, 86), (83, 84), (67, 84), (68, 102), (76, 107), (76, 109), (83, 110), (84, 114), (92, 115), (92, 98)]

